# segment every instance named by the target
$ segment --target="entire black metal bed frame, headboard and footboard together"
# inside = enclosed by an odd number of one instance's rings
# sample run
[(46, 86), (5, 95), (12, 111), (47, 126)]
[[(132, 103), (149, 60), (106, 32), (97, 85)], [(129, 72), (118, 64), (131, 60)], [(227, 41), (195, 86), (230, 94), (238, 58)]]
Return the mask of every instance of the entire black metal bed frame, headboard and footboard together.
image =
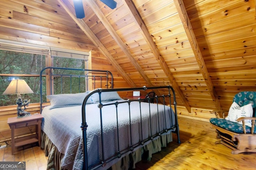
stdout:
[[(92, 72), (100, 72), (100, 74), (106, 74), (105, 76), (100, 76), (100, 86), (101, 88), (98, 88), (96, 90), (92, 90), (84, 99), (83, 101), (83, 104), (82, 104), (82, 124), (81, 124), (81, 129), (82, 129), (82, 135), (83, 135), (83, 146), (87, 146), (87, 139), (86, 139), (86, 129), (88, 127), (87, 123), (86, 123), (86, 102), (87, 100), (90, 98), (90, 96), (92, 94), (95, 94), (95, 93), (98, 93), (99, 95), (99, 104), (98, 104), (98, 108), (100, 109), (100, 117), (101, 117), (101, 134), (103, 134), (103, 128), (102, 128), (102, 107), (104, 106), (108, 106), (108, 105), (113, 105), (113, 107), (116, 107), (116, 114), (117, 114), (117, 107), (118, 107), (118, 104), (120, 103), (125, 103), (127, 102), (128, 105), (129, 105), (129, 108), (130, 108), (130, 103), (131, 102), (148, 102), (149, 104), (149, 107), (150, 107), (150, 100), (151, 99), (156, 99), (156, 104), (158, 105), (160, 102), (159, 100), (162, 100), (163, 103), (165, 104), (165, 100), (166, 98), (169, 100), (169, 104), (170, 104), (170, 107), (172, 106), (171, 105), (171, 96), (173, 97), (173, 106), (174, 106), (174, 115), (175, 117), (171, 117), (170, 120), (166, 120), (165, 119), (165, 129), (163, 131), (158, 131), (158, 133), (156, 134), (152, 134), (152, 129), (150, 129), (150, 137), (148, 137), (147, 139), (145, 140), (141, 140), (140, 143), (138, 144), (135, 144), (133, 145), (132, 144), (132, 140), (131, 140), (131, 143), (130, 143), (130, 147), (128, 149), (125, 149), (125, 150), (120, 150), (119, 148), (119, 139), (118, 139), (118, 153), (114, 156), (112, 156), (111, 158), (108, 158), (108, 159), (105, 159), (104, 158), (104, 137), (103, 135), (101, 135), (101, 143), (102, 143), (102, 148), (101, 148), (101, 151), (102, 151), (102, 162), (96, 166), (94, 166), (92, 168), (92, 170), (95, 170), (99, 167), (104, 167), (106, 166), (106, 163), (114, 160), (115, 158), (120, 158), (123, 154), (127, 153), (127, 152), (131, 152), (131, 151), (135, 151), (136, 148), (139, 148), (140, 146), (143, 146), (146, 142), (148, 141), (153, 141), (154, 139), (156, 139), (156, 137), (160, 137), (162, 134), (164, 133), (167, 133), (168, 131), (174, 131), (174, 133), (176, 133), (177, 135), (177, 143), (180, 143), (180, 135), (179, 135), (179, 125), (178, 125), (178, 115), (177, 115), (177, 102), (176, 102), (176, 97), (175, 97), (175, 92), (174, 92), (174, 89), (171, 87), (171, 86), (158, 86), (158, 87), (146, 87), (146, 86), (143, 86), (143, 87), (140, 87), (140, 88), (113, 88), (113, 75), (111, 72), (109, 71), (106, 71), (106, 70), (88, 70), (88, 69), (79, 69), (79, 68), (62, 68), (62, 67), (45, 67), (41, 70), (40, 72), (40, 113), (42, 113), (42, 104), (43, 103), (46, 103), (46, 102), (43, 102), (42, 101), (42, 76), (43, 76), (43, 71), (46, 70), (46, 69), (50, 69), (50, 94), (52, 94), (52, 80), (53, 78), (52, 77), (56, 77), (56, 76), (66, 76), (66, 77), (70, 77), (70, 89), (72, 88), (72, 77), (86, 77), (87, 80), (88, 80), (88, 77), (92, 77), (92, 79), (94, 79), (94, 88), (95, 88), (95, 77), (96, 76), (92, 76), (92, 75), (88, 75), (88, 74), (85, 74), (85, 75), (70, 75), (70, 74), (65, 74), (65, 75), (60, 75), (60, 74), (53, 74), (53, 69), (63, 69), (63, 70), (77, 70), (77, 71), (92, 71)], [(110, 84), (111, 84), (111, 89), (108, 88), (108, 80), (109, 80), (109, 76), (110, 76)], [(106, 78), (106, 89), (102, 89), (102, 77)], [(86, 81), (88, 82), (88, 81)], [(114, 102), (112, 104), (104, 104), (101, 102), (101, 93), (102, 92), (112, 92), (112, 91), (116, 91), (116, 92), (121, 92), (121, 91), (137, 91), (137, 90), (158, 90), (158, 89), (168, 89), (168, 95), (162, 95), (162, 96), (155, 96), (153, 98), (144, 98), (144, 99), (141, 99), (139, 98), (138, 100), (126, 100), (124, 102)], [(71, 91), (71, 90), (70, 90)], [(172, 94), (171, 94), (171, 91), (172, 91)], [(129, 110), (129, 114), (130, 114), (130, 110)], [(149, 114), (150, 114), (150, 110), (149, 110)], [(141, 116), (141, 105), (140, 105), (140, 116)], [(175, 119), (175, 126), (172, 126), (172, 127), (166, 127), (166, 121), (172, 121), (172, 119)], [(118, 121), (118, 120), (117, 120)], [(142, 121), (142, 120), (141, 120)], [(151, 124), (151, 121), (150, 121), (150, 124)], [(117, 123), (117, 126), (118, 126), (118, 123)], [(159, 127), (159, 120), (158, 120), (158, 127)], [(150, 128), (151, 128), (151, 125), (150, 125)], [(142, 124), (141, 124), (141, 135), (142, 135)], [(159, 128), (158, 128), (159, 129)], [(117, 135), (119, 134), (118, 132), (118, 127), (117, 127)], [(130, 121), (130, 138), (132, 139), (132, 135), (131, 135), (131, 121)], [(143, 138), (142, 138), (143, 139)], [(83, 160), (83, 169), (85, 170), (88, 170), (88, 154), (87, 154), (87, 147), (83, 147), (83, 154), (84, 154), (84, 160)]]

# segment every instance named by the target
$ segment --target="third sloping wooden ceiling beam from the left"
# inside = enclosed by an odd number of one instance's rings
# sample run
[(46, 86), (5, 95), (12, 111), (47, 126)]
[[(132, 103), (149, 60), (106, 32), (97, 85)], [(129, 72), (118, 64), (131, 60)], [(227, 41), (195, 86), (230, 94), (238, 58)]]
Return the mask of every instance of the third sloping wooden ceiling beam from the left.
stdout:
[(146, 25), (144, 24), (144, 22), (140, 18), (140, 15), (138, 14), (138, 11), (134, 7), (134, 4), (132, 3), (131, 0), (122, 0), (122, 2), (126, 6), (126, 8), (129, 9), (128, 12), (134, 18), (134, 21), (138, 25), (138, 27), (140, 29), (140, 32), (142, 33), (142, 35), (143, 35), (144, 39), (146, 40), (147, 44), (149, 45), (152, 53), (156, 57), (156, 60), (160, 64), (160, 66), (163, 69), (166, 76), (168, 77), (168, 80), (172, 84), (172, 87), (174, 88), (175, 92), (180, 96), (180, 98), (181, 98), (182, 102), (184, 103), (186, 109), (190, 113), (191, 112), (191, 107), (190, 107), (188, 101), (186, 100), (186, 97), (182, 93), (182, 90), (180, 90), (180, 87), (179, 87), (178, 83), (176, 82), (174, 76), (172, 75), (172, 72), (170, 71), (168, 65), (164, 61), (164, 58), (160, 54), (160, 51), (156, 47), (156, 44), (154, 43), (152, 37), (150, 36), (150, 34), (148, 32), (148, 29), (146, 28)]

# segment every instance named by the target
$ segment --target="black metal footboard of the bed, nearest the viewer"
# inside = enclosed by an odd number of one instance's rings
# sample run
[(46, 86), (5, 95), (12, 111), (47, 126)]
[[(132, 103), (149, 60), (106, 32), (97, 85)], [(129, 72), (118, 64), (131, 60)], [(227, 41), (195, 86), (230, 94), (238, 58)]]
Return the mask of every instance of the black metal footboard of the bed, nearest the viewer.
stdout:
[[(112, 91), (116, 91), (116, 92), (120, 92), (120, 91), (133, 91), (133, 90), (157, 90), (157, 89), (163, 89), (163, 88), (167, 88), (168, 89), (168, 92), (169, 94), (168, 95), (163, 95), (163, 96), (155, 96), (153, 98), (144, 98), (144, 99), (141, 99), (139, 98), (138, 100), (127, 100), (127, 101), (124, 101), (124, 102), (114, 102), (112, 104), (104, 104), (101, 102), (101, 93), (102, 92), (112, 92)], [(171, 95), (171, 92), (170, 90), (172, 90), (172, 95)], [(162, 134), (164, 133), (167, 133), (168, 131), (171, 131), (175, 128), (175, 131), (174, 133), (177, 134), (177, 143), (180, 143), (180, 134), (179, 134), (179, 125), (178, 125), (178, 115), (177, 115), (177, 102), (176, 102), (176, 97), (175, 97), (175, 92), (174, 92), (174, 89), (171, 87), (171, 86), (158, 86), (158, 87), (146, 87), (146, 86), (143, 86), (141, 88), (116, 88), (116, 89), (102, 89), (102, 88), (98, 88), (96, 90), (93, 90), (92, 92), (90, 92), (84, 99), (84, 102), (82, 104), (82, 125), (81, 125), (81, 128), (82, 128), (82, 133), (83, 133), (83, 146), (87, 146), (87, 139), (86, 139), (86, 130), (87, 130), (87, 123), (86, 123), (86, 102), (87, 100), (90, 98), (90, 96), (94, 93), (98, 93), (99, 94), (99, 99), (100, 99), (100, 102), (98, 104), (98, 108), (100, 109), (100, 117), (101, 117), (101, 143), (102, 143), (102, 148), (101, 148), (101, 151), (102, 151), (102, 162), (100, 164), (98, 164), (98, 166), (95, 166), (93, 167), (91, 170), (95, 170), (97, 168), (100, 168), (101, 166), (104, 167), (106, 166), (106, 164), (112, 160), (114, 160), (115, 158), (120, 158), (122, 156), (122, 154), (125, 154), (127, 152), (130, 152), (130, 151), (134, 151), (136, 150), (136, 148), (138, 148), (139, 146), (141, 145), (144, 145), (147, 141), (153, 141), (156, 137), (160, 137)], [(108, 158), (108, 159), (105, 159), (104, 158), (104, 137), (103, 137), (103, 127), (102, 127), (102, 107), (104, 106), (109, 106), (109, 105), (114, 105), (113, 107), (116, 107), (116, 115), (118, 114), (118, 111), (117, 111), (117, 107), (118, 107), (118, 104), (120, 103), (128, 103), (129, 105), (129, 108), (130, 108), (130, 103), (131, 102), (148, 102), (149, 104), (149, 108), (150, 108), (150, 100), (151, 99), (156, 99), (156, 104), (158, 104), (158, 101), (159, 99), (162, 99), (165, 103), (165, 98), (168, 98), (169, 99), (169, 104), (171, 106), (171, 96), (173, 96), (173, 105), (174, 105), (174, 115), (175, 117), (171, 117), (170, 120), (168, 121), (172, 121), (172, 119), (175, 119), (175, 126), (172, 126), (170, 128), (167, 128), (166, 127), (166, 117), (165, 117), (165, 129), (163, 131), (158, 131), (158, 133), (156, 134), (152, 134), (152, 129), (151, 129), (151, 121), (150, 121), (150, 137), (148, 137), (147, 139), (145, 140), (141, 140), (141, 142), (139, 144), (135, 144), (133, 145), (132, 144), (132, 135), (131, 135), (131, 121), (130, 121), (130, 147), (127, 149), (127, 150), (120, 150), (120, 147), (119, 147), (119, 138), (117, 139), (117, 143), (118, 143), (118, 153), (114, 156), (112, 156), (111, 158)], [(129, 110), (129, 114), (130, 114), (130, 110)], [(150, 110), (149, 110), (149, 114), (150, 114)], [(165, 114), (164, 114), (165, 115)], [(142, 121), (142, 113), (141, 113), (141, 105), (140, 105), (140, 121)], [(150, 118), (150, 116), (149, 116)], [(117, 136), (119, 136), (119, 131), (118, 131), (118, 118), (116, 117), (116, 121), (117, 121)], [(142, 135), (142, 124), (141, 125), (141, 135)], [(159, 127), (159, 119), (158, 119), (158, 127)], [(159, 129), (159, 128), (158, 128)], [(143, 135), (142, 135), (143, 136)], [(143, 139), (143, 137), (142, 137)], [(84, 170), (88, 170), (88, 154), (87, 154), (87, 147), (83, 147), (83, 153), (84, 153), (84, 164), (83, 164), (83, 169)]]

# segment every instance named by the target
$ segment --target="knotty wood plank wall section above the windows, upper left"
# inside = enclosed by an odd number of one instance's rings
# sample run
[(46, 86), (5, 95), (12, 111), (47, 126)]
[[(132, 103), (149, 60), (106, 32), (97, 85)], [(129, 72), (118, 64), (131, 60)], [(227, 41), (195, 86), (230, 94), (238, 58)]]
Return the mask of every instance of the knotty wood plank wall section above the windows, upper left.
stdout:
[(96, 48), (55, 1), (0, 1), (0, 38), (79, 51)]

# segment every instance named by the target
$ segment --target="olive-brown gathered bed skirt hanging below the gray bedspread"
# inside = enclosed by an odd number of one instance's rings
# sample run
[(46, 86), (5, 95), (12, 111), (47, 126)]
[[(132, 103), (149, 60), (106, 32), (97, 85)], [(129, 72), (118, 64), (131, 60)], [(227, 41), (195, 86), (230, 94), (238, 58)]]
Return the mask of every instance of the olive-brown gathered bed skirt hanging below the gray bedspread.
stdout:
[[(45, 156), (48, 156), (47, 170), (66, 170), (60, 166), (64, 154), (58, 151), (57, 147), (52, 143), (52, 141), (50, 141), (48, 136), (43, 131), (41, 136), (41, 148), (44, 149)], [(128, 170), (129, 168), (134, 169), (135, 164), (142, 160), (142, 156), (150, 161), (152, 154), (161, 151), (161, 148), (166, 147), (170, 142), (172, 142), (172, 133), (162, 135), (144, 147), (124, 156), (116, 164), (112, 165), (109, 170)]]

